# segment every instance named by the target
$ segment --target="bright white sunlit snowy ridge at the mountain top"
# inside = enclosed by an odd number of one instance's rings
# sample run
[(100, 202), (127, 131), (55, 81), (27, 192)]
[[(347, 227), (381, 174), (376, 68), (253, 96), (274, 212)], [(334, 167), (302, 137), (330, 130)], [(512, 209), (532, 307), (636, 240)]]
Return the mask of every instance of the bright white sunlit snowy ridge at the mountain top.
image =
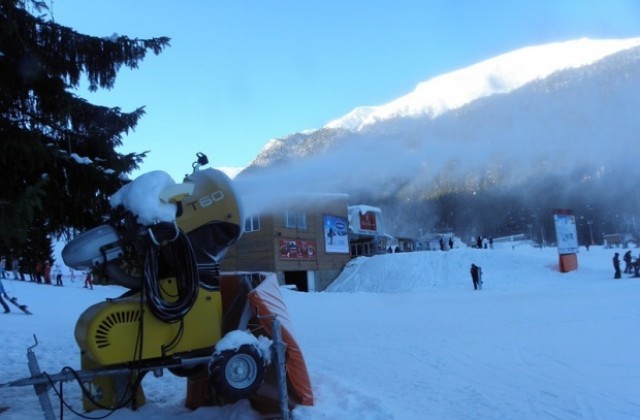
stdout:
[(398, 117), (435, 118), (474, 100), (509, 93), (560, 70), (578, 68), (640, 45), (640, 38), (582, 38), (521, 48), (417, 85), (415, 90), (380, 106), (358, 107), (324, 128), (361, 131)]

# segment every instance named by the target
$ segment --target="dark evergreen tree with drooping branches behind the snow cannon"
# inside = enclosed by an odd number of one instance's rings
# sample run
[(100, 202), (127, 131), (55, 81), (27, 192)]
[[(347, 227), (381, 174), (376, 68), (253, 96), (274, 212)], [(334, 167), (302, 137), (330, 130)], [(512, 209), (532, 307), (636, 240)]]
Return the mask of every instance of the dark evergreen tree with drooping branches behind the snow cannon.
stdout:
[[(33, 10), (33, 13), (30, 13)], [(100, 38), (47, 17), (36, 0), (0, 0), (0, 247), (99, 224), (108, 197), (145, 153), (120, 154), (123, 135), (144, 114), (93, 105), (71, 92), (110, 89), (169, 38)]]

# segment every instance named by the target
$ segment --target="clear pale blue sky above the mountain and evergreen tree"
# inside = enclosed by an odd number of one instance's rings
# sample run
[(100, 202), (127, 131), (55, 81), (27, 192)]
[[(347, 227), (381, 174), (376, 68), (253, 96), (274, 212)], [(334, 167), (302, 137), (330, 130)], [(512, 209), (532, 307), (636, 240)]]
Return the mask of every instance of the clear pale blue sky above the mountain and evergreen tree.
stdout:
[[(123, 152), (176, 181), (196, 152), (246, 166), (271, 138), (381, 105), (434, 76), (514, 49), (640, 36), (637, 0), (55, 0), (54, 19), (97, 36), (171, 47), (82, 96), (146, 106)], [(137, 176), (140, 172), (134, 173)]]

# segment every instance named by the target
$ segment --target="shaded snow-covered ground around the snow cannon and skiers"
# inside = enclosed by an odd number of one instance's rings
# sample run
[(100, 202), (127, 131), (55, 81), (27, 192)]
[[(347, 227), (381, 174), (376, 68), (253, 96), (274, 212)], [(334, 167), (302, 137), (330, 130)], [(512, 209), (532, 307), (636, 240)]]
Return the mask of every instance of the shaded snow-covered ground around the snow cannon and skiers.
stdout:
[[(294, 418), (639, 419), (640, 279), (614, 280), (613, 252), (582, 248), (579, 269), (564, 274), (554, 248), (390, 254), (353, 261), (324, 293), (283, 289), (316, 398)], [(481, 291), (471, 263), (482, 267)], [(124, 291), (65, 281), (3, 281), (34, 315), (0, 314), (0, 383), (29, 376), (34, 334), (43, 370), (79, 369), (79, 314)], [(168, 372), (143, 386), (147, 404), (112, 418), (260, 418), (245, 401), (190, 411), (185, 379)], [(74, 383), (64, 397), (81, 408)], [(42, 418), (31, 387), (0, 388), (2, 406), (2, 418)]]

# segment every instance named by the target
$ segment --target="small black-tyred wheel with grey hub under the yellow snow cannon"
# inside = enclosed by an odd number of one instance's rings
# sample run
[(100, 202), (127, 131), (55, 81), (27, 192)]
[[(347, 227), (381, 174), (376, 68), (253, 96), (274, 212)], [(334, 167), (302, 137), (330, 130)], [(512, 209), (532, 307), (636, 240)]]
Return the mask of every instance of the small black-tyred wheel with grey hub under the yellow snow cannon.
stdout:
[(265, 362), (252, 345), (225, 350), (214, 355), (209, 365), (209, 381), (218, 395), (229, 401), (249, 397), (264, 380)]

